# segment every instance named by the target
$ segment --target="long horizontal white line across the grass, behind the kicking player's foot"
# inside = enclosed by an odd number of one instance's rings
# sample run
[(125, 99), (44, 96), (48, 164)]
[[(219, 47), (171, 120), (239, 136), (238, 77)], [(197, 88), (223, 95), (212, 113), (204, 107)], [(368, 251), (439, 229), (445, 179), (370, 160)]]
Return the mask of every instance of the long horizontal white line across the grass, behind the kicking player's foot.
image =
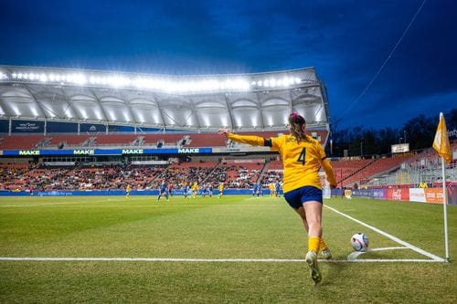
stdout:
[[(173, 257), (0, 257), (0, 261), (47, 261), (47, 262), (197, 262), (197, 263), (305, 263), (301, 258), (173, 258)], [(377, 262), (441, 262), (434, 259), (356, 259), (356, 260), (326, 260), (324, 263), (377, 263)]]

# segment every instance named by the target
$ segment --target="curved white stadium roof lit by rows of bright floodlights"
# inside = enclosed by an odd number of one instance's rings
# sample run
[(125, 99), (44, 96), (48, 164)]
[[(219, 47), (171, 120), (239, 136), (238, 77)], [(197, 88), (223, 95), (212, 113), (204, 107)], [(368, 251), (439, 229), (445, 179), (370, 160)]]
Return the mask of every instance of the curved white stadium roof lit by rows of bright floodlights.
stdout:
[(292, 111), (328, 130), (326, 89), (314, 68), (167, 76), (0, 66), (0, 119), (250, 131), (283, 130)]

